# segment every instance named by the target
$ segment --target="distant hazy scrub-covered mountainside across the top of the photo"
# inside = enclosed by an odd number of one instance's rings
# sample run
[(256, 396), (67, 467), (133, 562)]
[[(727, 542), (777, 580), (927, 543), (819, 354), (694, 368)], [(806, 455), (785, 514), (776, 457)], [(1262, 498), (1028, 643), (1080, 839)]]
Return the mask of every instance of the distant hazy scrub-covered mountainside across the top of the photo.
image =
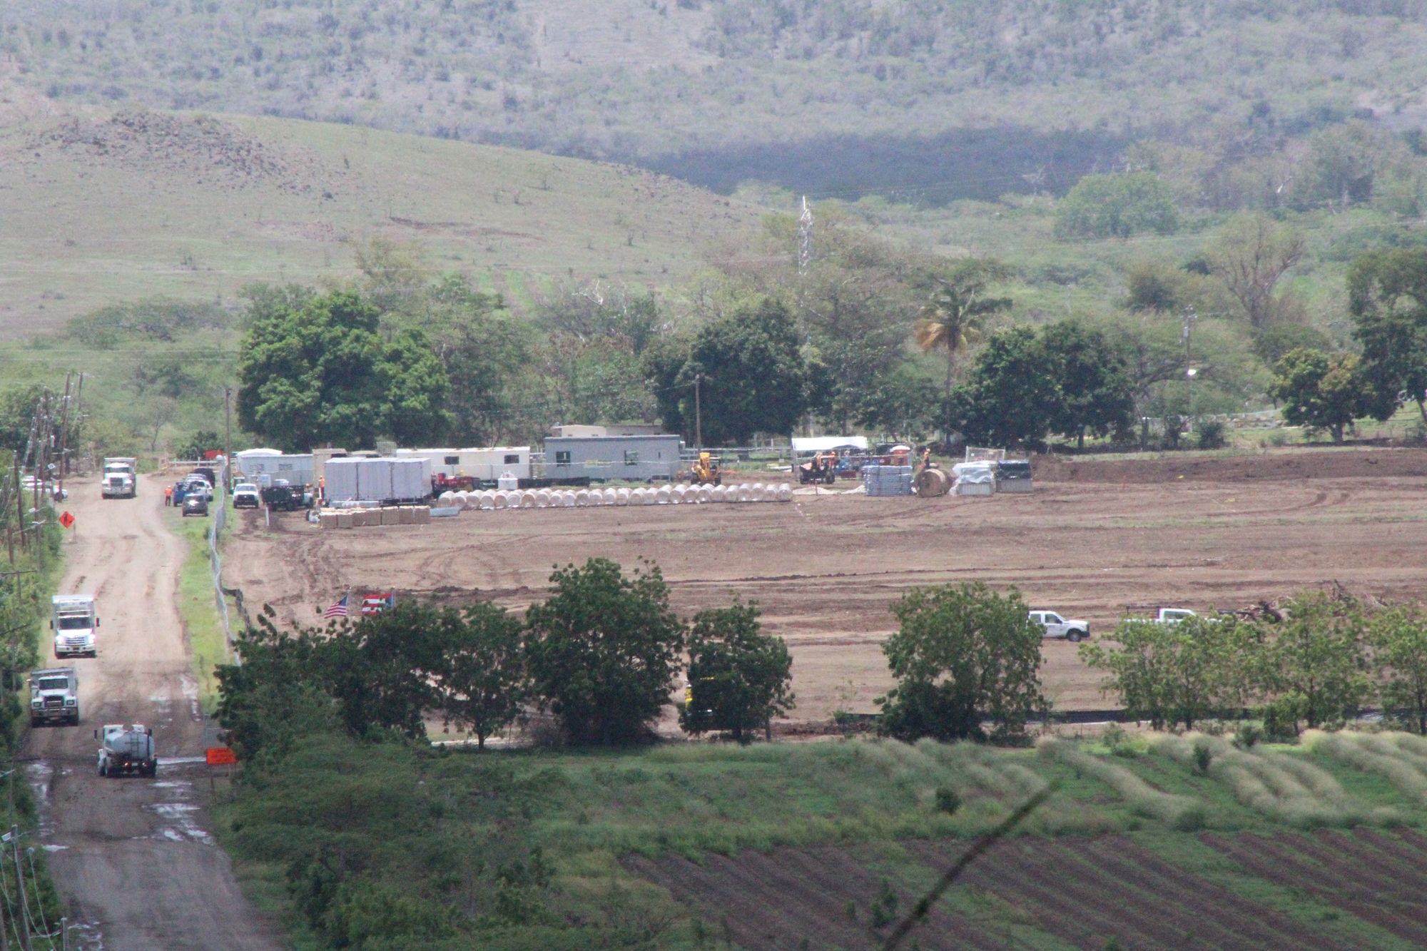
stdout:
[[(365, 124), (694, 181), (1065, 187), (1126, 137), (1421, 126), (1423, 0), (57, 0), (0, 67), (66, 101)], [(1271, 121), (1266, 121), (1271, 120)], [(1075, 133), (1063, 141), (1059, 133)], [(1220, 156), (1220, 157), (1223, 157)]]

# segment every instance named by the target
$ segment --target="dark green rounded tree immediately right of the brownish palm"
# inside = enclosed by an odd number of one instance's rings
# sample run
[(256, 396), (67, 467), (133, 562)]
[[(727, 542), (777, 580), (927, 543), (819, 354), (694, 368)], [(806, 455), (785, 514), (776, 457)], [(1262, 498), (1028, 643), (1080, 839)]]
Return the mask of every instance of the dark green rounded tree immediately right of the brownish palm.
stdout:
[(953, 428), (987, 446), (1045, 441), (1060, 401), (1059, 380), (1036, 331), (1009, 327), (976, 354), (966, 383), (950, 400)]

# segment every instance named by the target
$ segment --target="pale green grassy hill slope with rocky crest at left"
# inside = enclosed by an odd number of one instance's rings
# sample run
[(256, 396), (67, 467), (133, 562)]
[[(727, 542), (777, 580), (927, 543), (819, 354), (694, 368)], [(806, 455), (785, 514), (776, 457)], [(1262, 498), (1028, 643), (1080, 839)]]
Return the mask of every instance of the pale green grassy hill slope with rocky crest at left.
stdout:
[(654, 284), (759, 210), (648, 171), (265, 117), (0, 109), (0, 336), (151, 296), (338, 280), (354, 247), (418, 241), (517, 306), (555, 280)]

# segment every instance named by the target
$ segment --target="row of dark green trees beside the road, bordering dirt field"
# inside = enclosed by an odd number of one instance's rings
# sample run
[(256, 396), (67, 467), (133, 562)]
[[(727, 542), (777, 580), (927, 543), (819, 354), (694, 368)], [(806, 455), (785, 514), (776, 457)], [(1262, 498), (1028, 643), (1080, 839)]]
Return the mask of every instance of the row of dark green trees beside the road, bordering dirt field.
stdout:
[(756, 603), (698, 613), (669, 607), (656, 567), (626, 577), (591, 558), (551, 575), (524, 620), (477, 601), (404, 603), (355, 624), (278, 630), (271, 610), (218, 668), (218, 720), (244, 757), (340, 727), (354, 737), (425, 735), (427, 717), (485, 740), (534, 710), (575, 744), (644, 740), (669, 703), (688, 654), (689, 733), (748, 731), (792, 708), (792, 660), (762, 633)]

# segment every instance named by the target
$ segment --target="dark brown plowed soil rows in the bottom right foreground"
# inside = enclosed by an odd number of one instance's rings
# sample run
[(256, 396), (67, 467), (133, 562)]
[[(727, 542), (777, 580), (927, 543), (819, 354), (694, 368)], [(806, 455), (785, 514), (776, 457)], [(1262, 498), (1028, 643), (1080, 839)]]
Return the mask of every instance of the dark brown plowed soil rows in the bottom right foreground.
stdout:
[[(1037, 942), (1095, 951), (1112, 940), (1126, 948), (1334, 951), (1394, 938), (1427, 945), (1427, 840), (1416, 832), (1206, 834), (1202, 841), (1230, 860), (1236, 885), (1177, 868), (1130, 837), (1009, 840), (973, 862), (913, 934), (922, 948), (1017, 947), (1023, 937), (1012, 934), (1013, 922), (1039, 931)], [(922, 865), (910, 871), (929, 878), (962, 848), (909, 842)], [(885, 880), (846, 850), (783, 848), (702, 864), (629, 858), (626, 865), (745, 948), (876, 948), (888, 931), (868, 918)], [(1240, 887), (1251, 878), (1261, 880), (1259, 888)], [(1263, 885), (1306, 892), (1327, 914), (1310, 922), (1244, 897), (1264, 894)], [(899, 912), (916, 900), (905, 887), (893, 891)], [(977, 894), (1000, 911), (963, 911), (987, 907)]]

